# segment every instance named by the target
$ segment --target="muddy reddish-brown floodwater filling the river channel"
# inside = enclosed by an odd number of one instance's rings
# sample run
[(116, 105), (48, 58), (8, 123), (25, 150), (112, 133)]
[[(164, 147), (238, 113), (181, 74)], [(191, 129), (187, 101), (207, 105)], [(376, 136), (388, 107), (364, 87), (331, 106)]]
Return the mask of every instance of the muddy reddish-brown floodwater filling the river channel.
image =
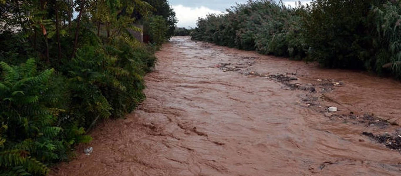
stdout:
[[(51, 176), (401, 175), (401, 154), (362, 135), (399, 130), (401, 83), (393, 79), (188, 37), (172, 38), (156, 55), (146, 101), (99, 125)], [(268, 76), (276, 74), (298, 85)], [(351, 112), (392, 125), (339, 117)]]

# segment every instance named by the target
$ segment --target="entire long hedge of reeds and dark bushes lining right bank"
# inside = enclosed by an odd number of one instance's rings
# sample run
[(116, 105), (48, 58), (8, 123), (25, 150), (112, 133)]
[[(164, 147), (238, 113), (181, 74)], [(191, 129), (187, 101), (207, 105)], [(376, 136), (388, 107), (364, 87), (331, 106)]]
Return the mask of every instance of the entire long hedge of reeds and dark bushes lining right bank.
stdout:
[(394, 0), (313, 0), (286, 7), (249, 1), (200, 18), (193, 40), (263, 54), (310, 58), (330, 68), (401, 77), (401, 4)]

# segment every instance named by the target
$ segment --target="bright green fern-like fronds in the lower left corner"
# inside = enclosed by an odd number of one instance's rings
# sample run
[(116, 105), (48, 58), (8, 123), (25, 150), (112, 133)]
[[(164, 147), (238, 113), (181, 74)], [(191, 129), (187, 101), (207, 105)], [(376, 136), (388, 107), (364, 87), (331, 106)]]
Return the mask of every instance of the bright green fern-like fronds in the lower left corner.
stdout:
[(49, 79), (54, 70), (38, 72), (34, 59), (12, 67), (0, 62), (0, 168), (5, 175), (45, 175), (42, 162), (58, 160), (65, 150), (58, 140), (61, 127), (46, 106)]

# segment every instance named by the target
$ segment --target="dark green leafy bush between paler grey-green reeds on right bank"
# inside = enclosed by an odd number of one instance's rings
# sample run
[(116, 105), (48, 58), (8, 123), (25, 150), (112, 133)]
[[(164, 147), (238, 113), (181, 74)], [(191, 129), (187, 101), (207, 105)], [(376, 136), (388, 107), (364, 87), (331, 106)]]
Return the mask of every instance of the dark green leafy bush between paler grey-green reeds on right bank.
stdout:
[(371, 1), (316, 0), (304, 18), (311, 57), (324, 67), (361, 68), (361, 51), (369, 45), (367, 10)]

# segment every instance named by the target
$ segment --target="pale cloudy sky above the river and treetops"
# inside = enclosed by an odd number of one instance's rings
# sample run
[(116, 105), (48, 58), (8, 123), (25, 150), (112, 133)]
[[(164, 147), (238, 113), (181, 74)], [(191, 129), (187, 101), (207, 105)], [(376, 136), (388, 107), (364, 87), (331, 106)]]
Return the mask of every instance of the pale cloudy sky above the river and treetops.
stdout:
[[(295, 6), (298, 0), (283, 0), (287, 5)], [(169, 0), (176, 12), (178, 27), (195, 27), (198, 17), (205, 17), (209, 13), (222, 13), (235, 3), (245, 3), (247, 0)], [(301, 0), (302, 4), (310, 0)]]

